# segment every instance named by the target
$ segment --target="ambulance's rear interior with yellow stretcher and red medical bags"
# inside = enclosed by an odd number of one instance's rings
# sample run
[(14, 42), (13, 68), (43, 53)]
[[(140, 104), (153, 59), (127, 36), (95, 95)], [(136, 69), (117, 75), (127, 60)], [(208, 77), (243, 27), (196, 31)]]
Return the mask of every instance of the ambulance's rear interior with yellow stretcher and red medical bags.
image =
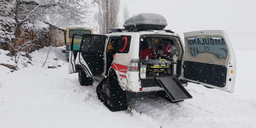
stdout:
[(142, 36), (140, 40), (140, 78), (179, 75), (182, 47), (177, 37)]

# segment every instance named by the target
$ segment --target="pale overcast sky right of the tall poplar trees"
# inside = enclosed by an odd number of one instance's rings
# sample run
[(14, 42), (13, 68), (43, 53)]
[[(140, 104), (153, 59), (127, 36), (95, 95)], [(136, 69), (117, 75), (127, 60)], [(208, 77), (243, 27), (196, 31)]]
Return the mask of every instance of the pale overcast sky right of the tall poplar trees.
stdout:
[(176, 33), (224, 30), (229, 33), (234, 48), (256, 49), (256, 0), (120, 0), (120, 3), (120, 23), (123, 23), (122, 11), (126, 5), (130, 16), (138, 13), (163, 15), (168, 23), (166, 29)]

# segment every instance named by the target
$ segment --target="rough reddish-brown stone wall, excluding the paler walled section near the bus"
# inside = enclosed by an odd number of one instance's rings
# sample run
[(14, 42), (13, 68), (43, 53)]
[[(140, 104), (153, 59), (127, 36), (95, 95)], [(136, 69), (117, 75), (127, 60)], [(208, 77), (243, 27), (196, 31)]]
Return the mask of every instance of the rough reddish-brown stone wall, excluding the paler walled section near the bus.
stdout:
[(11, 19), (0, 20), (1, 49), (10, 52), (12, 52), (13, 49), (32, 52), (50, 45), (49, 28), (38, 27), (34, 24), (24, 24), (21, 26), (18, 33), (19, 36), (17, 37), (14, 37), (14, 31), (15, 22)]

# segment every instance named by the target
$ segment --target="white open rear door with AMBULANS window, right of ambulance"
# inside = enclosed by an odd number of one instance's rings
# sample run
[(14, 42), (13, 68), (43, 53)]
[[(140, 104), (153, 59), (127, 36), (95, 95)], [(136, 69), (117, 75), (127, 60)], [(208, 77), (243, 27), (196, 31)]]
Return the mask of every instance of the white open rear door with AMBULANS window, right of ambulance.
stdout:
[(236, 58), (225, 31), (184, 33), (184, 80), (234, 92)]

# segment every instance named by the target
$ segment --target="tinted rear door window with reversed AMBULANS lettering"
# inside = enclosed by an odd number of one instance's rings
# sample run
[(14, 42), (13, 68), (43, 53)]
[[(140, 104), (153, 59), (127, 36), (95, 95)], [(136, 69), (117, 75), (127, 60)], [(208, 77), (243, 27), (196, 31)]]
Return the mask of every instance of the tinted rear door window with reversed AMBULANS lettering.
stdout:
[(188, 38), (188, 48), (192, 56), (197, 56), (204, 52), (210, 52), (218, 58), (225, 59), (227, 57), (227, 46), (224, 38), (211, 37), (208, 38)]

